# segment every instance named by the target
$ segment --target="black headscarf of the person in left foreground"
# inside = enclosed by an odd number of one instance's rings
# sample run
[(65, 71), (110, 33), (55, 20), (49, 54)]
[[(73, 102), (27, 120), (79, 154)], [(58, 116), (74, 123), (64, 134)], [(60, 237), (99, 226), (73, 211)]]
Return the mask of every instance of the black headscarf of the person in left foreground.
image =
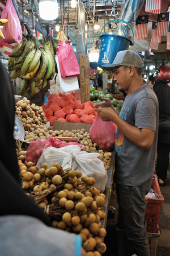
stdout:
[(23, 214), (39, 218), (51, 225), (48, 216), (30, 199), (22, 189), (18, 159), (13, 137), (15, 102), (10, 77), (0, 61), (1, 76), (1, 126), (0, 126), (0, 216)]

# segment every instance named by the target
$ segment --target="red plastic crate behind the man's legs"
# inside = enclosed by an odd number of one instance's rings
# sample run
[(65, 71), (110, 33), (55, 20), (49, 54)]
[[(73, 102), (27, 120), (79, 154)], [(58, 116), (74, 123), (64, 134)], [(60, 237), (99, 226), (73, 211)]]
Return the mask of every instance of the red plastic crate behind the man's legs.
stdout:
[(158, 227), (159, 210), (161, 205), (164, 203), (164, 197), (160, 192), (160, 187), (158, 183), (158, 176), (152, 175), (151, 188), (154, 190), (156, 198), (145, 197), (147, 201), (145, 220), (147, 224), (147, 232), (156, 233)]

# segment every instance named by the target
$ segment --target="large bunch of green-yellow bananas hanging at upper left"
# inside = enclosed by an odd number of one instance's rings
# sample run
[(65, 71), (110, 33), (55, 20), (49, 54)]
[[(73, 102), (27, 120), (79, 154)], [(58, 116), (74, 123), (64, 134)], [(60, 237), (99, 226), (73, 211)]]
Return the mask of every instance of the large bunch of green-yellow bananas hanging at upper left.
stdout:
[[(57, 46), (57, 44), (55, 45)], [(7, 67), (11, 72), (11, 79), (19, 77), (23, 79), (19, 95), (23, 96), (31, 88), (31, 96), (36, 93), (37, 88), (45, 88), (47, 82), (53, 79), (56, 73), (56, 60), (53, 44), (42, 46), (35, 37), (23, 38), (14, 47)]]

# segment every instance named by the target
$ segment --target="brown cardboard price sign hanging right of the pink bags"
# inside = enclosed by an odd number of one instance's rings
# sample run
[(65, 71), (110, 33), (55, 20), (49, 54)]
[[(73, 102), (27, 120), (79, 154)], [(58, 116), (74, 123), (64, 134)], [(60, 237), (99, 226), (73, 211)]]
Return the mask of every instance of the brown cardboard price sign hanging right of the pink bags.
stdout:
[(79, 55), (81, 103), (90, 100), (90, 62), (88, 55)]

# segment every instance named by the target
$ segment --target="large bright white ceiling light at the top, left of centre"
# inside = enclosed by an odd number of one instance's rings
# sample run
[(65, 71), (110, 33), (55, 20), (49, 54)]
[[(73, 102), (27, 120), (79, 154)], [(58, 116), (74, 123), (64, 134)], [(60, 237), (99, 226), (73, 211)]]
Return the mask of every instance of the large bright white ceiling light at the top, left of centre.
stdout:
[(40, 17), (45, 20), (54, 20), (58, 17), (57, 0), (40, 0), (39, 3)]

